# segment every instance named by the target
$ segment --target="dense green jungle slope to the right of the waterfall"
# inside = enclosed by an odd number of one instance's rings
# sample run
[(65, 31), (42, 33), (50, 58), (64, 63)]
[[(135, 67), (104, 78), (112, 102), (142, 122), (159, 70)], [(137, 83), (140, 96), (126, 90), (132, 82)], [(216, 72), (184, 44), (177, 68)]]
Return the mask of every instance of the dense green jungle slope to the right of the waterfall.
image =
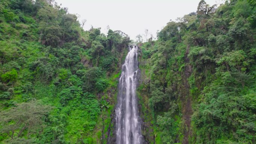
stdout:
[(138, 96), (151, 144), (256, 143), (256, 1), (170, 21), (143, 43)]

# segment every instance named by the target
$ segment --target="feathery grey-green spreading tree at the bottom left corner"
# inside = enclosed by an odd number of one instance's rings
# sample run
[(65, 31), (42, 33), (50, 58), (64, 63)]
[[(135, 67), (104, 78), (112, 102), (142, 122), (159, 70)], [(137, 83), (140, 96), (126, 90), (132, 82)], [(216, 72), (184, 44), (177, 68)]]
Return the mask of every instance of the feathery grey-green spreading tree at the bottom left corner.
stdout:
[[(39, 104), (33, 100), (16, 104), (8, 110), (0, 113), (1, 132), (7, 134), (10, 138), (22, 137), (42, 131), (48, 112), (52, 107)], [(25, 132), (26, 131), (26, 132)]]

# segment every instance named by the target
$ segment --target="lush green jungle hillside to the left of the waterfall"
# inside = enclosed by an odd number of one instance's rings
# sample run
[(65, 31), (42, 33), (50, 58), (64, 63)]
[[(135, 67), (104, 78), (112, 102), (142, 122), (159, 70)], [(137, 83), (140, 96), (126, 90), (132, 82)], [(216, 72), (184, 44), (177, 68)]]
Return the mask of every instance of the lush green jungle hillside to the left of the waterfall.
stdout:
[(129, 42), (52, 0), (1, 0), (0, 143), (106, 143)]

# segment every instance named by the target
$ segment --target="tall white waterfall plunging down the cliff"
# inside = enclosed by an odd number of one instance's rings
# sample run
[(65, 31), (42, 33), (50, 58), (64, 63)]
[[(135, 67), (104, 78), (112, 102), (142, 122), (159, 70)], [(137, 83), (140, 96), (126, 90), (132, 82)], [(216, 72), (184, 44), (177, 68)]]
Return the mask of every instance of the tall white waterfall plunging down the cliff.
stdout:
[(116, 144), (142, 144), (140, 117), (136, 96), (138, 72), (138, 48), (129, 47), (129, 53), (122, 66), (118, 84), (118, 104), (116, 106)]

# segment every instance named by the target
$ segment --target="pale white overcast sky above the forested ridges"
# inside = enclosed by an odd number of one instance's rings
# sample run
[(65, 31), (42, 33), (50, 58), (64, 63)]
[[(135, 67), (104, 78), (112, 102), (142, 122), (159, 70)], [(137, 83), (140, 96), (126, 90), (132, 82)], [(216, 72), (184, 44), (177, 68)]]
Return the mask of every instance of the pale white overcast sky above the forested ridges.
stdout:
[[(112, 30), (121, 30), (135, 40), (145, 29), (156, 36), (167, 22), (175, 21), (191, 12), (196, 12), (200, 0), (56, 0), (61, 7), (68, 7), (68, 12), (79, 14), (81, 21), (86, 19), (85, 30), (91, 25), (101, 27), (107, 32), (107, 25)], [(205, 0), (208, 4), (218, 4), (221, 0)]]

